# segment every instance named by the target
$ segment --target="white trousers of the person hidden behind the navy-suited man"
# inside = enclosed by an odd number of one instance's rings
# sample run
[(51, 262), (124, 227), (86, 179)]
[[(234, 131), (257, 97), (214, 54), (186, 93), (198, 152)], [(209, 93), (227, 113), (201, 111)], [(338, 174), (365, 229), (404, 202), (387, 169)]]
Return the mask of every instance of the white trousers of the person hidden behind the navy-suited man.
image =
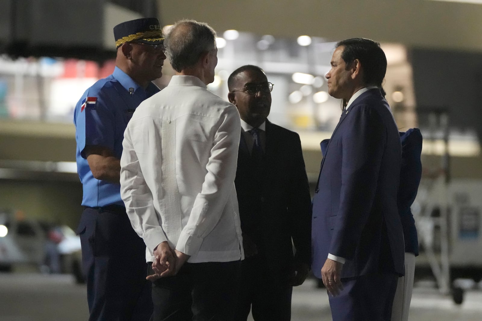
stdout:
[(391, 321), (408, 321), (412, 290), (414, 288), (415, 255), (405, 253), (405, 276), (398, 279), (397, 291), (393, 299)]

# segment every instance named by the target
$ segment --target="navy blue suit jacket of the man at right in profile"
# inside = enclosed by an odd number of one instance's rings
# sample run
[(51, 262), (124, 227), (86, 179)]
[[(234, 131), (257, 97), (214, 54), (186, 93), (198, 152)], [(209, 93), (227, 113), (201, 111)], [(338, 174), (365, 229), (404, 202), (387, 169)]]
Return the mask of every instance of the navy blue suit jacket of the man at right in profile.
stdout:
[(313, 200), (313, 273), (331, 253), (347, 259), (342, 278), (403, 274), (397, 207), (402, 145), (380, 90), (368, 90), (343, 112), (321, 162)]

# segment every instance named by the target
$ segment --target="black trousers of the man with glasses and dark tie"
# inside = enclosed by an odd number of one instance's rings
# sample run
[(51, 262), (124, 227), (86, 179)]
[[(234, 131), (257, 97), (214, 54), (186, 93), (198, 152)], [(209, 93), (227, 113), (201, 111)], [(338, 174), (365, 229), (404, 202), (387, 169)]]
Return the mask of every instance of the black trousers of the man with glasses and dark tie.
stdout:
[(236, 321), (246, 321), (250, 309), (255, 321), (291, 320), (293, 287), (288, 285), (289, 274), (270, 269), (270, 265), (256, 256), (241, 262)]

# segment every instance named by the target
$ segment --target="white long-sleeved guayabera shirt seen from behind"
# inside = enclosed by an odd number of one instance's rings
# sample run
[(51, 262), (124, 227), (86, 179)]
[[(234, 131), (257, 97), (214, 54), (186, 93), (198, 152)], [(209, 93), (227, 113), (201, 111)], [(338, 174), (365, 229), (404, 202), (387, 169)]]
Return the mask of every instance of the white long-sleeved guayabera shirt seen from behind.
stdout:
[(136, 109), (124, 132), (120, 193), (146, 243), (146, 260), (167, 241), (188, 262), (244, 258), (234, 188), (240, 116), (193, 76)]

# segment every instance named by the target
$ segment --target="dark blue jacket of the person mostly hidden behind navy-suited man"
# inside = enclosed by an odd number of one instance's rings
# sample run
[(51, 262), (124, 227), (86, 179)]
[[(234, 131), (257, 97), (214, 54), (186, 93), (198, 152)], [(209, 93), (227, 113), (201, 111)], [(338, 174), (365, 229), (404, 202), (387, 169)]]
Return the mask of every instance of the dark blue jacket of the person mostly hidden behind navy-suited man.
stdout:
[(415, 201), (418, 185), (422, 178), (422, 134), (418, 128), (410, 128), (400, 133), (402, 141), (402, 168), (400, 170), (400, 188), (398, 190), (398, 211), (402, 219), (405, 252), (418, 255), (418, 237), (415, 219), (410, 206)]

